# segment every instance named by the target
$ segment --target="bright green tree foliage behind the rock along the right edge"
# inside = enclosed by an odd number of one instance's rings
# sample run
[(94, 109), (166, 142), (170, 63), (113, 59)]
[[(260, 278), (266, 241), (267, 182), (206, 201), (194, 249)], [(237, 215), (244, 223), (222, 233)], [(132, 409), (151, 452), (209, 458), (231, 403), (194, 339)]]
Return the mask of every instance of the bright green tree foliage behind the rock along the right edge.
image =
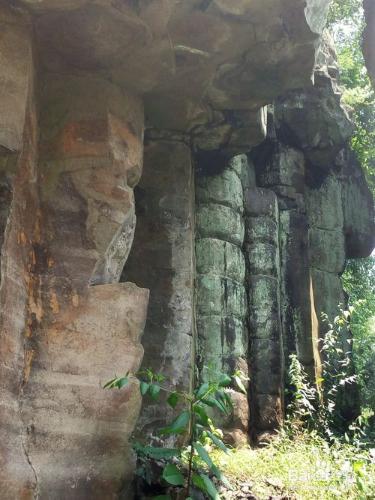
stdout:
[[(375, 194), (375, 92), (363, 54), (362, 0), (334, 0), (329, 14), (341, 70), (343, 102), (355, 124), (351, 147)], [(375, 258), (349, 261), (342, 276), (351, 308), (353, 357), (363, 411), (375, 408)]]

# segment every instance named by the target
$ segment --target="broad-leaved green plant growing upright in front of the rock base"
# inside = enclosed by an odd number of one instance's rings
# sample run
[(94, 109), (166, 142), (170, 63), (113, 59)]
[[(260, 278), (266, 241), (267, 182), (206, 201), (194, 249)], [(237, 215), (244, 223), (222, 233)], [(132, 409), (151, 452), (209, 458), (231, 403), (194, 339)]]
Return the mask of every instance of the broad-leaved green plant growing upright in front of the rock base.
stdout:
[[(245, 377), (241, 372), (232, 376), (218, 374), (198, 385), (191, 392), (171, 391), (165, 387), (165, 377), (156, 374), (150, 369), (136, 374), (127, 373), (122, 377), (115, 377), (108, 381), (104, 388), (121, 389), (131, 378), (139, 380), (142, 396), (150, 396), (158, 400), (160, 394), (167, 394), (167, 404), (178, 410), (175, 418), (169, 425), (159, 430), (162, 437), (174, 436), (177, 440), (175, 448), (144, 446), (136, 443), (134, 448), (143, 462), (141, 473), (147, 479), (148, 470), (145, 464), (152, 459), (163, 459), (167, 463), (161, 473), (165, 483), (184, 487), (184, 497), (194, 498), (194, 488), (200, 490), (213, 500), (218, 500), (219, 494), (209, 474), (228, 485), (225, 476), (211, 458), (213, 449), (220, 449), (227, 453), (228, 449), (222, 441), (222, 432), (213, 423), (213, 411), (229, 415), (232, 411), (232, 400), (229, 387), (236, 384), (246, 393), (243, 385)], [(206, 473), (206, 470), (208, 473)], [(170, 498), (164, 495), (164, 499)]]

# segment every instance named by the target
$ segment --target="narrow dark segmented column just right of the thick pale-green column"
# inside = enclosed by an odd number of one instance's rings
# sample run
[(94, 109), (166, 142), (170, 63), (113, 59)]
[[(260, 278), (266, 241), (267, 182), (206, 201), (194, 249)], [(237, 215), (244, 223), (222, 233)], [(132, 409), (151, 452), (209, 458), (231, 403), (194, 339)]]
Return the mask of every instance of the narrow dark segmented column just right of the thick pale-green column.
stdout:
[(252, 430), (262, 433), (278, 427), (283, 416), (279, 210), (275, 193), (248, 188), (245, 214), (251, 422)]

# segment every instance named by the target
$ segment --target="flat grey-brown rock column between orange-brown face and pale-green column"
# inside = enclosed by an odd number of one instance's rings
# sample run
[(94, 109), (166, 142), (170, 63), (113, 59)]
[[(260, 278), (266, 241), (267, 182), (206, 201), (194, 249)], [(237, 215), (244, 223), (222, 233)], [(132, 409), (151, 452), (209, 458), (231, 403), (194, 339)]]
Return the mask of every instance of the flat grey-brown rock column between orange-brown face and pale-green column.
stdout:
[[(137, 231), (123, 279), (150, 290), (144, 366), (186, 390), (194, 352), (193, 196), (190, 148), (166, 137), (147, 139), (136, 188)], [(138, 429), (152, 433), (170, 416), (164, 405), (146, 404)]]

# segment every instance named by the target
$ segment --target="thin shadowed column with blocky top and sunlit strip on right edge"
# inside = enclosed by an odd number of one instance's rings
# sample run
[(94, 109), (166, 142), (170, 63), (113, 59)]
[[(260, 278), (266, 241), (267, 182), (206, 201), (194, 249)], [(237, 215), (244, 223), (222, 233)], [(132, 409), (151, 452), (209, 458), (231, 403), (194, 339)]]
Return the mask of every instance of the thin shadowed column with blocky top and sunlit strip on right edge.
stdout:
[[(257, 183), (272, 189), (279, 207), (280, 308), (285, 362), (291, 353), (314, 380), (305, 158), (301, 151), (271, 142), (254, 155)], [(269, 154), (272, 152), (272, 154)]]

